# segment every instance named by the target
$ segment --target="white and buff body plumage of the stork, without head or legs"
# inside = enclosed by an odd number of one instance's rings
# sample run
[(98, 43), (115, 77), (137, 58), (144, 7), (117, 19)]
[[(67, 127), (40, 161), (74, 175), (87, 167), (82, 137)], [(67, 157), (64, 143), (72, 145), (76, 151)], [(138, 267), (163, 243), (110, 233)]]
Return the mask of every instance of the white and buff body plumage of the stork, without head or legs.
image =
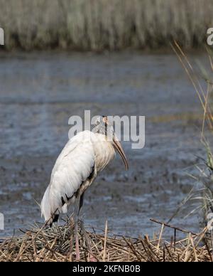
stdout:
[[(41, 202), (45, 221), (50, 220), (55, 211), (66, 213), (67, 206), (75, 202), (74, 195), (80, 186), (83, 183), (89, 186), (97, 171), (104, 169), (114, 154), (114, 148), (102, 134), (84, 131), (70, 139), (55, 162)], [(92, 171), (94, 176), (88, 179)]]

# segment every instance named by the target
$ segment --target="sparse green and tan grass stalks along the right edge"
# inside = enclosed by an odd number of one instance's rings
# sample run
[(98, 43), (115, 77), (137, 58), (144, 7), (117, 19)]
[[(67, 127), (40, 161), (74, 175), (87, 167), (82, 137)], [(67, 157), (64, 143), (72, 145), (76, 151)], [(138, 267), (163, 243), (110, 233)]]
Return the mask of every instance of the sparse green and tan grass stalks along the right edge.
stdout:
[[(197, 73), (194, 66), (190, 62), (187, 55), (182, 51), (179, 44), (174, 41), (172, 44), (173, 51), (178, 56), (182, 67), (187, 73), (190, 82), (195, 88), (197, 97), (199, 97), (202, 110), (203, 110), (203, 120), (202, 120), (202, 131), (201, 131), (201, 143), (205, 149), (205, 156), (198, 156), (200, 162), (195, 164), (195, 168), (198, 171), (197, 176), (191, 175), (192, 179), (195, 181), (195, 186), (190, 191), (187, 198), (185, 198), (178, 210), (175, 212), (176, 216), (182, 207), (190, 201), (190, 203), (195, 203), (195, 208), (188, 214), (190, 216), (192, 213), (200, 213), (202, 211), (201, 223), (204, 224), (209, 231), (209, 247), (212, 248), (213, 252), (213, 152), (212, 152), (212, 139), (206, 138), (206, 132), (212, 136), (213, 131), (213, 105), (212, 105), (212, 93), (213, 93), (213, 52), (211, 48), (207, 48), (208, 59), (209, 59), (209, 72), (206, 68), (200, 65), (200, 73)], [(212, 137), (210, 137), (212, 138)], [(198, 204), (197, 204), (198, 203)], [(174, 216), (171, 218), (173, 219)], [(171, 221), (170, 219), (170, 221)]]

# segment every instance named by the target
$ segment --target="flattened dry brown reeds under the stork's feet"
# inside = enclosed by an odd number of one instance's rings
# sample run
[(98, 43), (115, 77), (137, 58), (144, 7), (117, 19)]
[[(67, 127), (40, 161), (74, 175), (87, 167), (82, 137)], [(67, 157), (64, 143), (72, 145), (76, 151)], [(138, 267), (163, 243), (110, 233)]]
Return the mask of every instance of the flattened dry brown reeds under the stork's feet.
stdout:
[[(190, 233), (170, 225), (162, 224), (159, 238), (129, 238), (87, 230), (86, 243), (80, 232), (80, 261), (93, 258), (96, 261), (140, 261), (140, 262), (212, 262), (208, 246), (207, 228), (202, 233)], [(163, 240), (166, 227), (174, 229), (170, 242)], [(178, 231), (185, 233), (184, 240), (176, 240)], [(70, 262), (76, 261), (73, 225), (65, 223), (52, 229), (35, 227), (21, 237), (8, 238), (0, 243), (0, 262)], [(89, 249), (90, 248), (90, 249)]]

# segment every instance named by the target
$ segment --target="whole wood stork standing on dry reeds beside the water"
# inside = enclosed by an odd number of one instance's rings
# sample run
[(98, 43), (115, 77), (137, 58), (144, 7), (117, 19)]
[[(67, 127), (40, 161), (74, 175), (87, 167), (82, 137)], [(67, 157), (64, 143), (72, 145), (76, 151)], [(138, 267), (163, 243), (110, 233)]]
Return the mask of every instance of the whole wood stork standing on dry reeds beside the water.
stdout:
[[(90, 131), (79, 132), (72, 137), (55, 162), (50, 184), (41, 202), (41, 214), (45, 223), (52, 225), (58, 221), (60, 213), (74, 205), (75, 235), (77, 219), (83, 205), (84, 191), (92, 184), (99, 171), (102, 171), (114, 158), (116, 150), (128, 162), (113, 126), (107, 117), (98, 117), (96, 126)], [(78, 240), (76, 240), (76, 248)], [(79, 252), (77, 253), (79, 258)]]

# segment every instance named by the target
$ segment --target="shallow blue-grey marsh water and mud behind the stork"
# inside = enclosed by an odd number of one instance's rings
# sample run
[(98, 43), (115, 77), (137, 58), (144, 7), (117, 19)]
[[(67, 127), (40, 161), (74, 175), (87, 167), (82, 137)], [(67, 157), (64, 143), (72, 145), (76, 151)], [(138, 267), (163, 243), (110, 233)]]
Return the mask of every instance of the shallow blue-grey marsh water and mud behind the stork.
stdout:
[[(195, 58), (203, 58), (195, 55)], [(178, 58), (143, 53), (1, 53), (1, 236), (40, 218), (51, 169), (67, 142), (71, 115), (146, 116), (146, 146), (124, 142), (129, 171), (116, 159), (84, 200), (84, 221), (114, 233), (138, 236), (159, 230), (192, 186), (202, 109)], [(197, 215), (173, 224), (199, 230)]]

